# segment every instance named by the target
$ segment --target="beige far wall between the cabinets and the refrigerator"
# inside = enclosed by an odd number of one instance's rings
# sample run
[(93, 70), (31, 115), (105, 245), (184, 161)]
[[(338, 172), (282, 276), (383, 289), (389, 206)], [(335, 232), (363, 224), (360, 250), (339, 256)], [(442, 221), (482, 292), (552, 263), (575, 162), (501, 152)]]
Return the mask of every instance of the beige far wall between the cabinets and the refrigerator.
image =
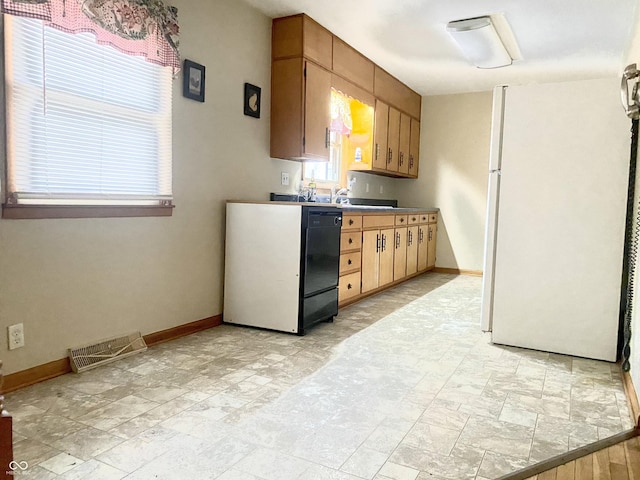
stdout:
[(492, 92), (422, 98), (418, 180), (402, 206), (440, 208), (436, 266), (482, 270)]

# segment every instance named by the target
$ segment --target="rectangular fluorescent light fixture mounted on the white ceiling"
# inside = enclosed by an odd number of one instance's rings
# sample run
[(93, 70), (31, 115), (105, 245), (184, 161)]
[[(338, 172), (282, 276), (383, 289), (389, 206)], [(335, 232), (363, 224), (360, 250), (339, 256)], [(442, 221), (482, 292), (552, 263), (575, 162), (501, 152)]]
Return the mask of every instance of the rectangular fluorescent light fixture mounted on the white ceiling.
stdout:
[(497, 68), (511, 65), (512, 58), (493, 26), (491, 17), (455, 20), (447, 24), (447, 31), (476, 67)]

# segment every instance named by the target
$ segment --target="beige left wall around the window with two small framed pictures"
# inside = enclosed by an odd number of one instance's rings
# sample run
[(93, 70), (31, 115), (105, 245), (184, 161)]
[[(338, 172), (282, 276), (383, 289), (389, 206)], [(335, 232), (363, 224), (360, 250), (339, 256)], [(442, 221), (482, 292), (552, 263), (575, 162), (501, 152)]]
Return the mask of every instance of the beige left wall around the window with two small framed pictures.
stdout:
[[(271, 21), (234, 0), (176, 0), (183, 58), (206, 65), (206, 102), (174, 82), (171, 218), (0, 220), (0, 358), (12, 373), (114, 334), (143, 334), (221, 313), (224, 200), (266, 200)], [(262, 118), (243, 115), (244, 82), (263, 89)], [(6, 327), (26, 346), (8, 351)]]

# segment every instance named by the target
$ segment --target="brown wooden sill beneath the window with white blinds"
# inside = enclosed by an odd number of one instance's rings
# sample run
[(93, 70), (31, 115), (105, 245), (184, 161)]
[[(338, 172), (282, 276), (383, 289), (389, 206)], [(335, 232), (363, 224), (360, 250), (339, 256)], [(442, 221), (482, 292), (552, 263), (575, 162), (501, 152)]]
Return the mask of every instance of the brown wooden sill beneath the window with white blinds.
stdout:
[(110, 217), (170, 217), (170, 206), (87, 206), (87, 205), (3, 205), (2, 218), (110, 218)]

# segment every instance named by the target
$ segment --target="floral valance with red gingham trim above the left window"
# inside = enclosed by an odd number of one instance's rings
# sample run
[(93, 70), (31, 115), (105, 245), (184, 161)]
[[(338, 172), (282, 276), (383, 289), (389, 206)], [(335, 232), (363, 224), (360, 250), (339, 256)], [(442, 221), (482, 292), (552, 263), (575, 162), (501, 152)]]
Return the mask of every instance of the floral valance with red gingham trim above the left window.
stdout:
[(178, 10), (160, 0), (0, 0), (2, 12), (38, 18), (69, 33), (180, 70)]

